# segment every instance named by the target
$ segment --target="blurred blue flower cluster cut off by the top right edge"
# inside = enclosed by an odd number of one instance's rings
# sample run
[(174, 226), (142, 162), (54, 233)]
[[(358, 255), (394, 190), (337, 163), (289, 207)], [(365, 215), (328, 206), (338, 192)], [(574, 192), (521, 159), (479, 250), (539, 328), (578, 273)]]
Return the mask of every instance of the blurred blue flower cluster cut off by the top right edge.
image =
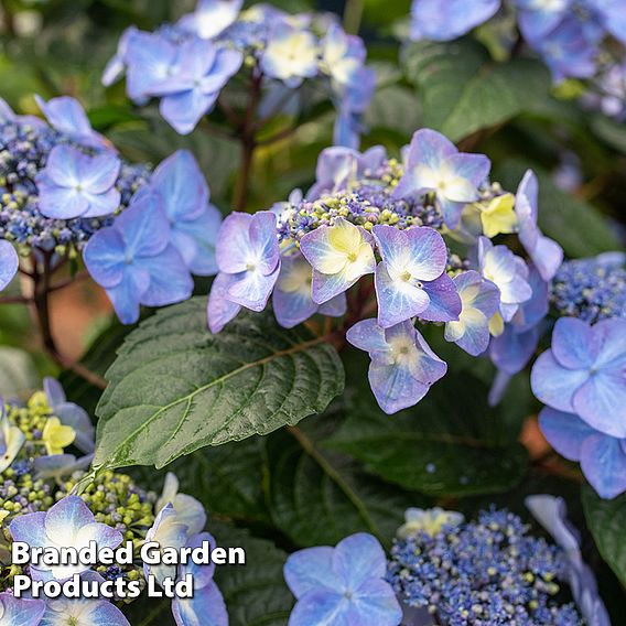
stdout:
[(492, 19), (503, 6), (516, 12), (521, 35), (555, 80), (592, 77), (612, 44), (624, 55), (624, 7), (601, 0), (413, 0), (411, 39), (454, 40)]

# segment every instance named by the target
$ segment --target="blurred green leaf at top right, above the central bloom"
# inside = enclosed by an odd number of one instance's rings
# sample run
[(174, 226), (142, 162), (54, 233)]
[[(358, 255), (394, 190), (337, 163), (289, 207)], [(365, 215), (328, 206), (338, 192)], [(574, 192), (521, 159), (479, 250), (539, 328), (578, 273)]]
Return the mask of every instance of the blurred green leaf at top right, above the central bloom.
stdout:
[(535, 60), (490, 60), (478, 43), (417, 43), (404, 54), (421, 97), (424, 125), (458, 141), (532, 111), (549, 96), (550, 75)]

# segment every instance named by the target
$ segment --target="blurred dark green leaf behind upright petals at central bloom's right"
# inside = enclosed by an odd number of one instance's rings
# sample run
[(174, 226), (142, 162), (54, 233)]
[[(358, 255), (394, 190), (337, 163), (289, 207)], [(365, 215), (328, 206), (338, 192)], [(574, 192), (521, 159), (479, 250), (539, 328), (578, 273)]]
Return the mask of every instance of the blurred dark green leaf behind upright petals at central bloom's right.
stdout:
[(561, 244), (568, 257), (591, 257), (622, 247), (615, 229), (600, 211), (561, 191), (550, 175), (533, 163), (509, 159), (496, 168), (494, 177), (506, 188), (516, 190), (529, 168), (539, 177), (539, 226)]

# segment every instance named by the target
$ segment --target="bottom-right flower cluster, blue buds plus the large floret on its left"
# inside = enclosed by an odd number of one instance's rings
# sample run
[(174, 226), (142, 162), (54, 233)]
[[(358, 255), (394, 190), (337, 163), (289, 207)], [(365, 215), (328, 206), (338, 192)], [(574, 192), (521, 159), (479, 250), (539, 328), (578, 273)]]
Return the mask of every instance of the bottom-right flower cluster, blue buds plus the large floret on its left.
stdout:
[(609, 626), (563, 500), (538, 495), (527, 506), (557, 546), (507, 510), (492, 507), (467, 522), (412, 508), (387, 562), (363, 532), (295, 552), (284, 565), (298, 600), (289, 625)]

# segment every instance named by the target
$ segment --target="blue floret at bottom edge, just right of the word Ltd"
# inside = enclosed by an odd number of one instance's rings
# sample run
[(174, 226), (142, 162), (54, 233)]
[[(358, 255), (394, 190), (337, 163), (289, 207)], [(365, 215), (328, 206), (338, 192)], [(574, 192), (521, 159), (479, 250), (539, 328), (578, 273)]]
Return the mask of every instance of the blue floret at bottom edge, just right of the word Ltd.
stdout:
[[(208, 532), (196, 535), (187, 542), (187, 548), (199, 548), (204, 541), (215, 549), (215, 539)], [(181, 565), (180, 578), (191, 574), (194, 581), (194, 595), (191, 598), (175, 597), (172, 601), (172, 613), (176, 626), (228, 626), (228, 613), (224, 597), (213, 580), (215, 564), (196, 565), (193, 561)]]

